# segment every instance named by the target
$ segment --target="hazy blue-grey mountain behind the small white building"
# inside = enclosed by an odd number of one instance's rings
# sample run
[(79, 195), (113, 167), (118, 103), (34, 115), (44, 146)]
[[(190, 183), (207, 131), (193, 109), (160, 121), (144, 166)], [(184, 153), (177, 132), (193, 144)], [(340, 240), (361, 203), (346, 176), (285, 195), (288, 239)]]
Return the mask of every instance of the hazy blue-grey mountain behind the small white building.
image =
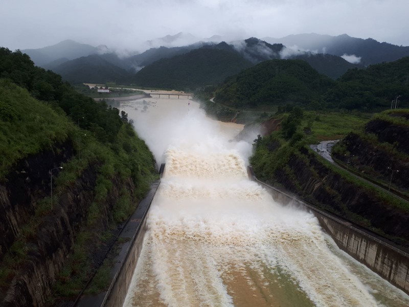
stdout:
[(52, 70), (60, 74), (64, 80), (72, 83), (127, 83), (131, 78), (131, 73), (97, 54), (66, 61)]

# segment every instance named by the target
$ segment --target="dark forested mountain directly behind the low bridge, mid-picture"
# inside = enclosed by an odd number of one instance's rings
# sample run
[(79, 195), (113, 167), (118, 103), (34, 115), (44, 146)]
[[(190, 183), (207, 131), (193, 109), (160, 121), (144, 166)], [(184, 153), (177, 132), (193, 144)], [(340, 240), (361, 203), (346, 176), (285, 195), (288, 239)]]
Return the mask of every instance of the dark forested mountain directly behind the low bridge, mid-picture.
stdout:
[(148, 65), (135, 75), (133, 83), (139, 86), (194, 90), (199, 86), (217, 84), (251, 65), (251, 62), (243, 59), (237, 52), (200, 48)]

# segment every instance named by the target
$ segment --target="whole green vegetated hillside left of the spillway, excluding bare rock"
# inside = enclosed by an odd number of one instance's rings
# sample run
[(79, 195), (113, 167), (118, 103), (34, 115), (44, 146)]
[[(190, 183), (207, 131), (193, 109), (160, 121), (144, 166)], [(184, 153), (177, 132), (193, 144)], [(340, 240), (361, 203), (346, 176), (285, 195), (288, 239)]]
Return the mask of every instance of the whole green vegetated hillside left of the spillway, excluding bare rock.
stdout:
[[(75, 201), (87, 207), (74, 214), (78, 221), (83, 220), (76, 229), (71, 257), (60, 271), (53, 273), (57, 275), (48, 284), (50, 287), (57, 282), (54, 299), (72, 297), (98, 266), (93, 255), (101, 252), (111, 236), (107, 227), (117, 231), (118, 223), (133, 212), (157, 178), (155, 161), (126, 114), (120, 115), (118, 109), (105, 102), (76, 93), (60, 76), (35, 67), (27, 55), (1, 48), (0, 76), (0, 185), (7, 185), (21, 161), (37, 161), (35, 157), (46, 155), (41, 158), (41, 188), (32, 195), (32, 203), (24, 206), (33, 206), (33, 212), (19, 216), (18, 236), (9, 235), (10, 245), (2, 246), (0, 252), (0, 301), (11, 280), (30, 267), (27, 264), (52, 257), (42, 249), (44, 244), (50, 244), (49, 237), (41, 235), (43, 227), (49, 227), (48, 223), (63, 210), (61, 203), (56, 208), (60, 195), (81, 185), (90, 172), (95, 172), (95, 186), (87, 186), (92, 198)], [(53, 155), (63, 155), (64, 161), (56, 165)], [(48, 170), (59, 165), (63, 168), (53, 172), (52, 201)], [(127, 189), (129, 185), (132, 192)], [(120, 192), (112, 194), (118, 186), (122, 187)], [(20, 192), (26, 191), (22, 188)], [(82, 192), (76, 190), (75, 194)], [(107, 214), (109, 202), (113, 205)]]

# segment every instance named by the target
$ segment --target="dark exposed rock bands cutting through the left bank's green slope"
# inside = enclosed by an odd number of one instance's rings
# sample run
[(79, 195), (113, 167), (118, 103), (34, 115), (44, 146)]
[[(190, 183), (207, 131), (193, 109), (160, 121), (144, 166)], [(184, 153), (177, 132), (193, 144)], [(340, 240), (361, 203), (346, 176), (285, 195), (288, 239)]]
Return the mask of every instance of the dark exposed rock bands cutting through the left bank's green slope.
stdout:
[[(49, 195), (49, 169), (71, 156), (72, 146), (69, 143), (60, 146), (59, 150), (41, 152), (21, 161), (10, 172), (7, 181), (0, 185), (0, 206), (4, 212), (0, 215), (0, 227), (5, 233), (1, 238), (2, 256), (33, 216), (38, 200)], [(55, 164), (50, 165), (50, 161)], [(11, 276), (9, 289), (0, 296), (2, 306), (42, 306), (46, 303), (75, 237), (86, 221), (88, 208), (95, 196), (97, 172), (98, 165), (88, 166), (75, 183), (60, 194), (52, 212), (42, 217), (35, 235), (26, 243), (26, 260), (19, 272)], [(124, 182), (116, 177), (112, 183), (106, 201), (100, 204), (103, 214), (97, 224), (101, 231), (111, 220), (112, 206), (119, 199), (123, 185), (133, 193), (131, 180)]]

